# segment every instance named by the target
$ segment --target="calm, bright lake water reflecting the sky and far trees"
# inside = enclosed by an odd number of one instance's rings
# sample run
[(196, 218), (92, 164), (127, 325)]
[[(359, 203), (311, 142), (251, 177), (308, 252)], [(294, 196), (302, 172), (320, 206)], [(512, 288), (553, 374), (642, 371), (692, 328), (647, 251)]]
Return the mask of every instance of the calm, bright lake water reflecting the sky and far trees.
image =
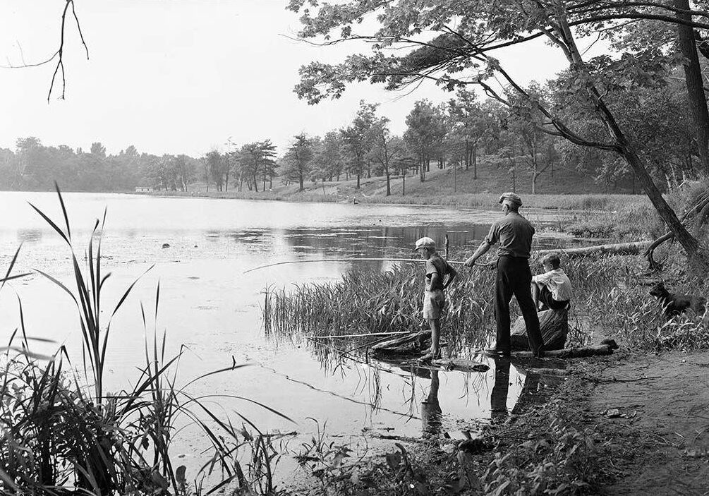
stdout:
[[(61, 210), (53, 193), (0, 193), (0, 270), (23, 243), (16, 271), (39, 269), (72, 286), (67, 247), (35, 213), (28, 201), (57, 223)], [(67, 193), (65, 195), (77, 254), (83, 254), (91, 227), (108, 209), (104, 230), (106, 317), (130, 283), (152, 264), (113, 320), (109, 339), (108, 390), (119, 390), (136, 378), (143, 365), (146, 334), (167, 332), (169, 352), (183, 344), (181, 378), (250, 363), (237, 371), (196, 383), (194, 394), (240, 395), (269, 405), (291, 417), (287, 422), (250, 402), (215, 398), (211, 403), (229, 415), (235, 412), (266, 431), (298, 433), (297, 449), (309, 440), (316, 424), (327, 424), (330, 436), (359, 439), (362, 432), (420, 436), (432, 414), (442, 412), (442, 425), (453, 436), (462, 420), (504, 417), (527, 383), (515, 368), (488, 373), (440, 372), (417, 377), (406, 371), (382, 371), (360, 363), (323, 366), (307, 346), (269, 342), (263, 337), (259, 303), (264, 287), (275, 284), (335, 281), (351, 262), (293, 264), (243, 274), (272, 261), (335, 257), (411, 257), (418, 237), (441, 242), (447, 233), (452, 252), (476, 244), (496, 212), (403, 205), (308, 204), (206, 198)], [(530, 220), (549, 220), (529, 213)], [(541, 241), (539, 241), (541, 239)], [(561, 241), (540, 236), (537, 242)], [(169, 248), (162, 248), (168, 243)], [(386, 269), (387, 264), (365, 262)], [(155, 291), (160, 282), (160, 310), (154, 322)], [(57, 286), (33, 275), (9, 283), (0, 294), (0, 339), (18, 326), (20, 298), (27, 332), (33, 337), (65, 343), (80, 363), (80, 331), (76, 310)], [(147, 333), (140, 317), (143, 302), (149, 315)], [(491, 324), (492, 327), (492, 324)], [(38, 345), (36, 351), (53, 351)], [(491, 364), (494, 365), (494, 364)], [(491, 408), (491, 404), (494, 406)], [(236, 423), (239, 420), (236, 417)], [(376, 441), (374, 441), (376, 444)], [(183, 436), (176, 449), (194, 466), (202, 439)], [(281, 476), (293, 470), (284, 463)], [(188, 474), (189, 478), (189, 474)]]

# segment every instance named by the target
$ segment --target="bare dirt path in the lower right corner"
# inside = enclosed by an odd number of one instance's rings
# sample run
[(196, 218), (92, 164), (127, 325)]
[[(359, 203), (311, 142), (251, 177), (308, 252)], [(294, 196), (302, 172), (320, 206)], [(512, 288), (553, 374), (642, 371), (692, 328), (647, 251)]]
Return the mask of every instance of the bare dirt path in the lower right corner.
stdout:
[(709, 353), (609, 362), (585, 415), (620, 455), (602, 494), (709, 495)]

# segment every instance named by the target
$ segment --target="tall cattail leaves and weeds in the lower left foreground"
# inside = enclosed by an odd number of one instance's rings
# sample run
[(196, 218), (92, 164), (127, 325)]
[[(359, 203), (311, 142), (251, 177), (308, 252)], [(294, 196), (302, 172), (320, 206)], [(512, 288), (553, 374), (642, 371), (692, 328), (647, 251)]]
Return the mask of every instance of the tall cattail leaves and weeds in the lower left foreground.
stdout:
[[(133, 388), (108, 394), (104, 367), (110, 353), (111, 319), (138, 281), (123, 292), (108, 321), (101, 322), (102, 293), (110, 274), (101, 267), (101, 235), (96, 221), (82, 269), (72, 247), (69, 217), (57, 188), (65, 228), (34, 207), (65, 240), (72, 259), (75, 289), (42, 273), (69, 295), (79, 316), (83, 338), (84, 381), (65, 366), (69, 354), (62, 346), (49, 357), (34, 354), (24, 327), (13, 333), (0, 359), (0, 492), (3, 495), (187, 495), (211, 494), (228, 485), (242, 494), (272, 494), (273, 468), (277, 463), (272, 437), (238, 412), (236, 427), (217, 415), (208, 401), (226, 395), (194, 396), (190, 386), (217, 373), (230, 373), (242, 365), (228, 366), (177, 384), (182, 350), (166, 354), (166, 336), (157, 330), (145, 342), (145, 362)], [(104, 212), (104, 221), (106, 215)], [(103, 227), (104, 222), (101, 222)], [(97, 238), (94, 257), (94, 238)], [(153, 316), (157, 322), (160, 284)], [(141, 305), (147, 330), (145, 308)], [(146, 332), (146, 336), (149, 335)], [(16, 344), (15, 341), (19, 340)], [(252, 402), (285, 417), (255, 400)], [(175, 436), (182, 429), (197, 429), (208, 442), (205, 461), (187, 474), (172, 456)], [(189, 477), (189, 479), (188, 479)], [(210, 487), (204, 487), (209, 481)]]

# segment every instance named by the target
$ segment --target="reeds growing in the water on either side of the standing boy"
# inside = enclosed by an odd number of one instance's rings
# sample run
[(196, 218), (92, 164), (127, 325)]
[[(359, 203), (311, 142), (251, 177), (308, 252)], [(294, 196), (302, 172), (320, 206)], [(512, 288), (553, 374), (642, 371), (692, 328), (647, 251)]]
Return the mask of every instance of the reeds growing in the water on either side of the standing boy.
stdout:
[[(447, 291), (443, 326), (449, 346), (482, 346), (492, 315), (489, 288), (493, 272), (459, 272)], [(387, 271), (354, 269), (342, 281), (302, 284), (293, 291), (266, 288), (262, 313), (267, 334), (299, 337), (376, 334), (421, 329), (424, 325), (420, 264), (396, 265)]]

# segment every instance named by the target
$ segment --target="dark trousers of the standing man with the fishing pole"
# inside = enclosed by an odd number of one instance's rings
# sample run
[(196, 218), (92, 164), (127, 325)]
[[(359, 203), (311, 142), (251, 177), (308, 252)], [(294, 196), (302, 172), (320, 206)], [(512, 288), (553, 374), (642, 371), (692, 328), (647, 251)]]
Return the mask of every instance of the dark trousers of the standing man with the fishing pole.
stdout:
[(497, 322), (498, 351), (510, 351), (510, 300), (512, 295), (522, 310), (527, 327), (527, 339), (530, 350), (542, 349), (542, 334), (539, 330), (539, 317), (532, 300), (530, 284), (532, 271), (529, 261), (521, 257), (499, 257), (497, 259), (497, 278), (495, 283), (495, 320)]

